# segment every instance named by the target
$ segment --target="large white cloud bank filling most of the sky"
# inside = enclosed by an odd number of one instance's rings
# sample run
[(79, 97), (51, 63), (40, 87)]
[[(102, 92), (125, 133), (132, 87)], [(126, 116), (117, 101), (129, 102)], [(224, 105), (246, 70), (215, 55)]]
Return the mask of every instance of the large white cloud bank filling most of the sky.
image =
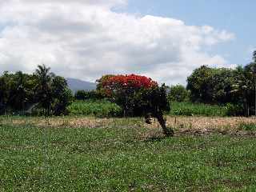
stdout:
[(125, 0), (0, 0), (0, 66), (33, 72), (41, 63), (57, 74), (94, 81), (102, 74), (146, 74), (185, 83), (201, 65), (229, 66), (203, 50), (234, 34), (187, 26), (173, 18), (115, 13)]

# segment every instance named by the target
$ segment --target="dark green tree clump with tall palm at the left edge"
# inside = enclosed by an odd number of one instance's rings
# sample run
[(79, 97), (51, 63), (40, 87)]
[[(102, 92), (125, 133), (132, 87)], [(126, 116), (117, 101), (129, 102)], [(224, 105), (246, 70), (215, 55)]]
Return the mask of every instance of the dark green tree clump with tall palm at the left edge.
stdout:
[(6, 71), (0, 76), (0, 114), (67, 114), (72, 99), (66, 79), (45, 65), (34, 74)]

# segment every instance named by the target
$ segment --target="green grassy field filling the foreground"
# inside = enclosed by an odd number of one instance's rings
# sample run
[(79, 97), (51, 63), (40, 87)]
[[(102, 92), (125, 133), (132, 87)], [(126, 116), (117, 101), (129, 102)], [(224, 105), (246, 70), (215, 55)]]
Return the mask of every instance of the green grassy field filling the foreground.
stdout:
[(0, 126), (0, 191), (255, 191), (256, 138), (107, 126)]

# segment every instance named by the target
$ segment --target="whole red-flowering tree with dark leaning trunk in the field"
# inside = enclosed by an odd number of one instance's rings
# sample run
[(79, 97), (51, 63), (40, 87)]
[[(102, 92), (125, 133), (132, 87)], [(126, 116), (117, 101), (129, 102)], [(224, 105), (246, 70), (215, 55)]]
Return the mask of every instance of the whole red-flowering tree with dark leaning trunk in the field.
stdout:
[[(136, 74), (105, 75), (98, 80), (98, 90), (122, 106), (124, 116), (144, 115), (158, 119), (164, 133), (168, 136), (173, 130), (166, 128), (163, 111), (170, 110), (166, 98), (166, 86), (158, 86), (151, 78)], [(149, 121), (146, 121), (149, 122)]]

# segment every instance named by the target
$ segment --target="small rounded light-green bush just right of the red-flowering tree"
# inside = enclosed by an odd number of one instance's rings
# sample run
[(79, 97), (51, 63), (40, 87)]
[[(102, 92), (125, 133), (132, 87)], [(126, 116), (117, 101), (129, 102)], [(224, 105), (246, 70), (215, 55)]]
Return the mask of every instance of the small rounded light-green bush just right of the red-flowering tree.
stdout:
[(170, 86), (167, 97), (172, 102), (185, 102), (189, 99), (189, 91), (182, 85)]

